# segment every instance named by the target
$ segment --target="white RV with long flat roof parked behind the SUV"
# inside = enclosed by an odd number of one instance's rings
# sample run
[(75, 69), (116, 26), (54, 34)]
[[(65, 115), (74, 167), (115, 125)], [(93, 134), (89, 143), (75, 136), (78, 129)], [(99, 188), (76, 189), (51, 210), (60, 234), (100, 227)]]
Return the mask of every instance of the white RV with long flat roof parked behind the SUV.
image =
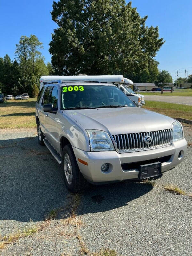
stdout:
[(129, 85), (133, 85), (133, 82), (127, 78), (124, 78), (122, 75), (100, 75), (100, 76), (87, 76), (87, 75), (78, 75), (78, 76), (41, 76), (40, 78), (40, 90), (41, 88), (51, 81), (89, 81), (89, 82), (100, 82), (115, 84), (118, 86), (132, 101), (135, 101), (138, 106), (145, 104), (144, 96), (141, 94), (136, 94), (129, 88)]

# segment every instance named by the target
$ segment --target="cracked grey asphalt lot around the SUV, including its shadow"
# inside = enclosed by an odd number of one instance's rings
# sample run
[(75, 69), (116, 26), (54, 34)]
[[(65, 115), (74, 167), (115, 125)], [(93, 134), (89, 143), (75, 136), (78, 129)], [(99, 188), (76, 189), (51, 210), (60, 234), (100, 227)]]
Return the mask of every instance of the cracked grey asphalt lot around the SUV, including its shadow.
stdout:
[[(191, 143), (192, 126), (184, 126)], [(74, 196), (64, 186), (59, 164), (36, 136), (36, 129), (0, 131), (2, 239), (38, 227), (33, 235), (7, 244), (0, 255), (91, 256), (102, 248), (122, 256), (192, 255), (192, 197), (163, 189), (176, 184), (192, 193), (191, 146), (185, 161), (155, 180), (155, 186), (90, 186), (79, 195), (78, 208), (72, 207), (77, 217), (68, 218)], [(57, 218), (45, 222), (53, 209), (58, 209)]]

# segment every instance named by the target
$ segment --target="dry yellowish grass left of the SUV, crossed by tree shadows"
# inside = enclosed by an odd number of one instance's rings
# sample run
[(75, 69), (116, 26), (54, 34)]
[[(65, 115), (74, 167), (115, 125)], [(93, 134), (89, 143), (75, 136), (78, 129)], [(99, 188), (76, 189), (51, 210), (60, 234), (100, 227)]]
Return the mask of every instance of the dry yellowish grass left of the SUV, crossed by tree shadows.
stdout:
[(36, 98), (0, 103), (0, 129), (36, 127), (35, 103)]

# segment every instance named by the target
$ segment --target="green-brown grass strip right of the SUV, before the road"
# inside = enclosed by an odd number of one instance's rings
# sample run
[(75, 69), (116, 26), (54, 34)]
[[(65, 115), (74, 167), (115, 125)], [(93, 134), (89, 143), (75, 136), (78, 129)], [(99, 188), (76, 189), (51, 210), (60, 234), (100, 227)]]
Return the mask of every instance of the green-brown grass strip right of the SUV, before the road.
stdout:
[(189, 105), (147, 100), (143, 108), (173, 118), (185, 118), (192, 120), (192, 106)]

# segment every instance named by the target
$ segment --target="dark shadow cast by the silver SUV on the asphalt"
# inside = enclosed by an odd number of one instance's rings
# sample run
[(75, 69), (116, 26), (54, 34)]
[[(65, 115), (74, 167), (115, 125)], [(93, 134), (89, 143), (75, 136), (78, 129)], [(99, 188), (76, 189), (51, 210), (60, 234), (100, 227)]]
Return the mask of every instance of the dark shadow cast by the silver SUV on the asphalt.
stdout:
[[(0, 146), (0, 221), (41, 221), (52, 209), (65, 209), (69, 192), (62, 168), (37, 137), (1, 140)], [(78, 215), (122, 207), (152, 189), (126, 181), (90, 185), (82, 192)]]

